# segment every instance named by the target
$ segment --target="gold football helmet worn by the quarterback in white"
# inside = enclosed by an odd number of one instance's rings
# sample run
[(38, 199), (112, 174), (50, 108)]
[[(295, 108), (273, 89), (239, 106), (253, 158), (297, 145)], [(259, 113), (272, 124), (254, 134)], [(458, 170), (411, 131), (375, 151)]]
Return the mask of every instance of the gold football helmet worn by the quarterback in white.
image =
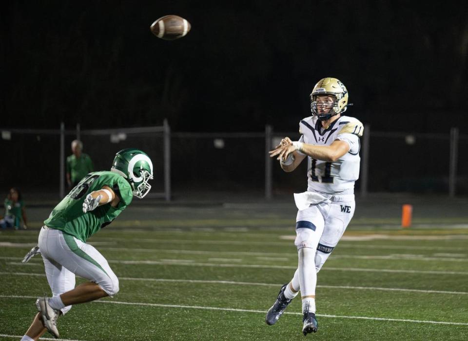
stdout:
[[(335, 100), (331, 105), (330, 111), (326, 114), (320, 114), (317, 111), (318, 96), (334, 96)], [(343, 83), (336, 78), (323, 78), (318, 81), (313, 87), (311, 93), (311, 110), (312, 115), (317, 116), (320, 121), (327, 121), (332, 116), (341, 114), (346, 111), (348, 106), (348, 90)]]

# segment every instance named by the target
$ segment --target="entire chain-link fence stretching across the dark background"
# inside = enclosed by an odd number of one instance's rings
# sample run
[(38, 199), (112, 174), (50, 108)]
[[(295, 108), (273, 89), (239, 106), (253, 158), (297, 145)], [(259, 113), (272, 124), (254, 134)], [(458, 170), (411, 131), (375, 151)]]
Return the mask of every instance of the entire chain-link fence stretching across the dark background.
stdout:
[[(367, 136), (366, 136), (367, 134)], [(60, 194), (65, 183), (61, 166), (71, 154), (71, 141), (83, 142), (95, 170), (110, 168), (115, 153), (137, 147), (154, 163), (153, 197), (188, 193), (264, 193), (265, 197), (307, 188), (307, 162), (285, 173), (267, 151), (298, 132), (170, 133), (169, 126), (100, 129), (2, 129), (4, 165), (0, 185), (6, 193), (17, 186), (27, 191)], [(468, 194), (468, 135), (376, 132), (367, 127), (361, 144), (361, 178), (356, 193), (411, 192)], [(63, 150), (62, 150), (63, 148)], [(66, 187), (64, 188), (66, 191)]]

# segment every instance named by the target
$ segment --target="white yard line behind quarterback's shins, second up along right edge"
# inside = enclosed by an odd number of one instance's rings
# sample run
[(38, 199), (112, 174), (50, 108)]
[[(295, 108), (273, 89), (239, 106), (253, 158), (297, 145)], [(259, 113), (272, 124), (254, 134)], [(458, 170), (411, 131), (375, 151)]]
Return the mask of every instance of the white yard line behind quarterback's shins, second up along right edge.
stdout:
[[(28, 272), (0, 272), (1, 275), (17, 275), (17, 276), (39, 276), (45, 277), (44, 273), (28, 273)], [(262, 286), (262, 287), (281, 287), (281, 284), (274, 283), (257, 283), (257, 282), (235, 282), (235, 281), (215, 281), (215, 280), (197, 280), (197, 279), (167, 279), (167, 278), (138, 278), (138, 277), (118, 277), (123, 281), (143, 281), (143, 282), (171, 282), (171, 283), (206, 283), (206, 284), (233, 284), (244, 286)], [(353, 286), (327, 286), (317, 285), (317, 287), (329, 289), (359, 289), (359, 290), (381, 290), (381, 291), (408, 291), (434, 294), (453, 294), (453, 295), (468, 295), (464, 291), (446, 291), (446, 290), (423, 290), (423, 289), (405, 289), (393, 287), (353, 287)]]

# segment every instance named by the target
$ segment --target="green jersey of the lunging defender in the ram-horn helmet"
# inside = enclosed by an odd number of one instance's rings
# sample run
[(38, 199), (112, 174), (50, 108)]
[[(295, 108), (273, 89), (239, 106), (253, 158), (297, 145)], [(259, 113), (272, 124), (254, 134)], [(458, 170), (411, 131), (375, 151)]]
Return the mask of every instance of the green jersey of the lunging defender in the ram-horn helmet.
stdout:
[[(88, 194), (109, 186), (120, 197), (117, 207), (110, 203), (83, 213), (83, 201)], [(89, 173), (54, 208), (44, 224), (73, 235), (82, 242), (109, 225), (132, 202), (133, 193), (128, 181), (115, 172)]]

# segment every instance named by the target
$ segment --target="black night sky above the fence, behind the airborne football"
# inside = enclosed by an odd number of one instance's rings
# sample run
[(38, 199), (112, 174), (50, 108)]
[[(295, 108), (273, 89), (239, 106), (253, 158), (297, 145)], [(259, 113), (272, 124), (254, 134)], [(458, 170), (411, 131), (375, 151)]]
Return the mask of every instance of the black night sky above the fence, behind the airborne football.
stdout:
[[(296, 130), (339, 78), (347, 114), (380, 131), (468, 129), (466, 1), (9, 1), (2, 126)], [(149, 26), (167, 14), (192, 31)], [(446, 118), (451, 122), (446, 122)]]

